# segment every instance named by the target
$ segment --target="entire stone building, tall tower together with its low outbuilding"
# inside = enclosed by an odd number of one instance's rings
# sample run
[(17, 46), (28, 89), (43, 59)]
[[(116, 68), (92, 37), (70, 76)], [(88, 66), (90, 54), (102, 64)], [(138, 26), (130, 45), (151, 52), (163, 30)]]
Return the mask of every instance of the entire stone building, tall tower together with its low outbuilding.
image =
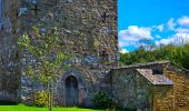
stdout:
[(53, 84), (54, 104), (92, 107), (93, 94), (103, 91), (115, 107), (189, 109), (188, 70), (171, 62), (117, 65), (117, 0), (0, 0), (0, 101), (33, 103), (33, 91), (42, 89), (19, 67), (31, 60), (20, 56), (17, 39), (33, 26), (41, 32), (57, 27), (74, 53)]

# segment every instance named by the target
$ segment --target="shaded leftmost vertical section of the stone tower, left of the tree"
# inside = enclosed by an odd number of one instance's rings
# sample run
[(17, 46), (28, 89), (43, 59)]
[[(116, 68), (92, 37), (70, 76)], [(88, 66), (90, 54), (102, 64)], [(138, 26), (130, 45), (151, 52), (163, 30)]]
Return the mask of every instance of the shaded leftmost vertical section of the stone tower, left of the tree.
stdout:
[(18, 0), (0, 0), (0, 101), (19, 97), (18, 8)]

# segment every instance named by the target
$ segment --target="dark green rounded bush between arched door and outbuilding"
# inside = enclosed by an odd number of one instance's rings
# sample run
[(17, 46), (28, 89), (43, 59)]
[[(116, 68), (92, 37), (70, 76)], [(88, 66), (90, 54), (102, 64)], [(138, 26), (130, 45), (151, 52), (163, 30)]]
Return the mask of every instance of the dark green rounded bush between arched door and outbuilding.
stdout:
[(112, 104), (111, 99), (106, 92), (98, 92), (92, 98), (93, 104), (97, 108), (110, 108)]

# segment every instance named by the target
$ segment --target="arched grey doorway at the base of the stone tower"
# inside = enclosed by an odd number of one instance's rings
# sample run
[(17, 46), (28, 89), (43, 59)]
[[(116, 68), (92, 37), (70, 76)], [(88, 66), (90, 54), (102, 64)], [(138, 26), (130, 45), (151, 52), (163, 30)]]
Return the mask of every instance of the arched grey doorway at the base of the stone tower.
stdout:
[(78, 80), (70, 75), (66, 79), (66, 105), (74, 107), (79, 102)]

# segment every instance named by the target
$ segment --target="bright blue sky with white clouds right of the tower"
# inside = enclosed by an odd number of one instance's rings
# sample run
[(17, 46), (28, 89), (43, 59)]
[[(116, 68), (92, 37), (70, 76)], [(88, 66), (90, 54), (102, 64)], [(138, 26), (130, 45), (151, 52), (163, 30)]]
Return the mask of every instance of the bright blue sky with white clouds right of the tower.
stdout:
[(119, 46), (189, 42), (189, 0), (118, 0)]

